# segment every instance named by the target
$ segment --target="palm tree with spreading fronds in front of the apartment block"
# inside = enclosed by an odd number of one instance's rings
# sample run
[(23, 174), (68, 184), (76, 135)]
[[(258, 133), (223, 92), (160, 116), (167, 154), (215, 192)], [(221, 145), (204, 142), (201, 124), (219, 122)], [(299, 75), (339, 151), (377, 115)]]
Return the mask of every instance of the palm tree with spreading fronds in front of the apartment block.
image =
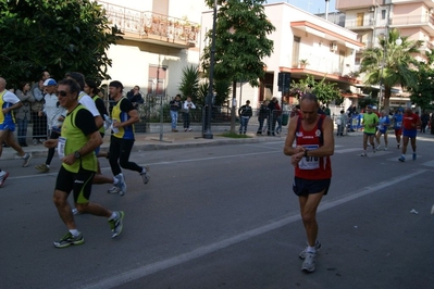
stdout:
[[(401, 43), (397, 40), (401, 38)], [(362, 54), (361, 73), (365, 73), (364, 83), (384, 86), (384, 109), (388, 110), (392, 88), (413, 87), (418, 78), (416, 67), (423, 41), (411, 41), (400, 37), (398, 29), (392, 29), (387, 37), (380, 38), (380, 47), (369, 48)]]

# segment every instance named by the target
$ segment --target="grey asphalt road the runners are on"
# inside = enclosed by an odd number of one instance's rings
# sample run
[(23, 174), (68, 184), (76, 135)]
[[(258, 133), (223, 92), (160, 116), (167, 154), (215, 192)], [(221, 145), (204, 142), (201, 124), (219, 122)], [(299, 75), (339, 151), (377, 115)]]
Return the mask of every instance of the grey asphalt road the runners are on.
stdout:
[(283, 141), (134, 152), (150, 165), (150, 183), (125, 172), (124, 197), (99, 185), (91, 198), (125, 211), (122, 236), (80, 215), (86, 242), (66, 249), (52, 246), (66, 233), (51, 202), (59, 161), (50, 174), (2, 161), (11, 176), (0, 189), (1, 288), (432, 287), (432, 136), (420, 137), (419, 159), (406, 163), (394, 140), (361, 158), (361, 137), (336, 139), (313, 274), (300, 271), (306, 237)]

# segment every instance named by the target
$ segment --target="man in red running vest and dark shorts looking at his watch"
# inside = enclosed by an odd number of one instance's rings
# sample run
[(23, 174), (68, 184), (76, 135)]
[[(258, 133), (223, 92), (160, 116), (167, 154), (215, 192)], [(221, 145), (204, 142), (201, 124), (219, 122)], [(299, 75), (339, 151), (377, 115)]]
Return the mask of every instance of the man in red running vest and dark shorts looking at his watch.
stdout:
[(308, 239), (308, 247), (299, 254), (303, 260), (301, 269), (313, 272), (321, 248), (317, 209), (322, 197), (327, 194), (332, 178), (330, 156), (334, 153), (333, 121), (324, 114), (318, 114), (318, 99), (312, 93), (301, 97), (300, 108), (302, 116), (295, 116), (289, 122), (284, 153), (292, 156), (295, 166), (293, 190), (298, 196)]

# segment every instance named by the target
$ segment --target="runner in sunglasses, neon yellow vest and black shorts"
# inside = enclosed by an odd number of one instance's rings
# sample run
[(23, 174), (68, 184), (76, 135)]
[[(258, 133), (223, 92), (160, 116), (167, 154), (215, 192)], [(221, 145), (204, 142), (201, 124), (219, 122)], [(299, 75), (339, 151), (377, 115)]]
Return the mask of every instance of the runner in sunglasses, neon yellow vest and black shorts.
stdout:
[(124, 212), (113, 212), (89, 201), (91, 179), (97, 171), (95, 149), (102, 143), (102, 139), (95, 124), (94, 115), (78, 102), (79, 92), (80, 87), (73, 79), (64, 79), (59, 83), (59, 102), (67, 110), (67, 115), (62, 126), (62, 137), (45, 142), (47, 148), (58, 147), (59, 156), (62, 160), (55, 181), (53, 202), (69, 233), (53, 242), (57, 248), (85, 242), (82, 233), (77, 230), (67, 201), (71, 191), (74, 194), (75, 206), (80, 212), (108, 218), (112, 238), (121, 235), (123, 229)]

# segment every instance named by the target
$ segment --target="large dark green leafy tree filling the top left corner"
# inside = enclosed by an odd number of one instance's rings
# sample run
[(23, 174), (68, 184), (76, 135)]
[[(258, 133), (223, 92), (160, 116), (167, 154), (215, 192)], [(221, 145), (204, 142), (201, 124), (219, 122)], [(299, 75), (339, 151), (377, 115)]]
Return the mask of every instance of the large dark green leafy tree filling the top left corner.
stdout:
[(71, 71), (109, 78), (107, 49), (120, 34), (96, 1), (0, 0), (0, 75), (11, 84), (44, 70), (58, 79)]

